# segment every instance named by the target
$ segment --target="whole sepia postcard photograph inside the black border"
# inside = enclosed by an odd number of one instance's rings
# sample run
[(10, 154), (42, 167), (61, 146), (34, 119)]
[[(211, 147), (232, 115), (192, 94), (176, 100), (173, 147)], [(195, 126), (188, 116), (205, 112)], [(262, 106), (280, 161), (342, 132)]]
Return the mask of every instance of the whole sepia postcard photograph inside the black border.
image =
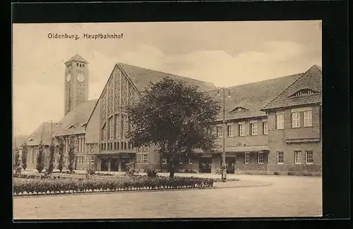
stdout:
[(12, 33), (13, 219), (323, 216), (321, 20)]

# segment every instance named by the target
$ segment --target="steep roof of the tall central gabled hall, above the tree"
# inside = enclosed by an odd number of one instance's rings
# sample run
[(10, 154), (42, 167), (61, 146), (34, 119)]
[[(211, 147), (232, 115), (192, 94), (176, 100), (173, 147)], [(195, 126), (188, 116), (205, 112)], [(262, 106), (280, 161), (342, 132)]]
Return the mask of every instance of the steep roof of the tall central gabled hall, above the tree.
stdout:
[(155, 71), (151, 69), (144, 69), (138, 66), (133, 66), (124, 63), (118, 63), (120, 69), (122, 69), (128, 78), (131, 79), (136, 88), (141, 92), (145, 90), (148, 83), (155, 83), (161, 81), (163, 77), (169, 77), (174, 81), (184, 81), (188, 85), (199, 86), (201, 90), (214, 90), (217, 87), (210, 82), (199, 81), (193, 78), (187, 78), (184, 76), (177, 76), (174, 74), (164, 73), (162, 71)]

